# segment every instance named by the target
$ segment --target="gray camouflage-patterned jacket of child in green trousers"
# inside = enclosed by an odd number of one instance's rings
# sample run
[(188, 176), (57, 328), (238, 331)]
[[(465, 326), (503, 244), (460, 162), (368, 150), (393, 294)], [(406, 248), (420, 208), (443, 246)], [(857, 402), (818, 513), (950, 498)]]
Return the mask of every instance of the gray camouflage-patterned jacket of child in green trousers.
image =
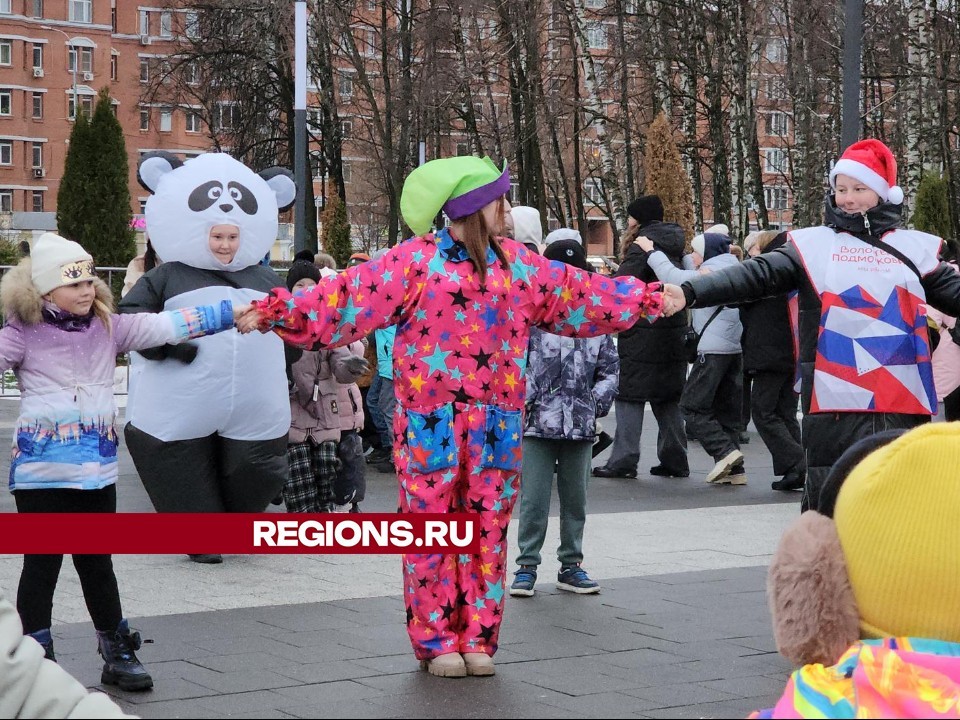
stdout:
[(568, 338), (534, 329), (527, 359), (524, 435), (593, 440), (617, 395), (620, 358), (609, 335)]

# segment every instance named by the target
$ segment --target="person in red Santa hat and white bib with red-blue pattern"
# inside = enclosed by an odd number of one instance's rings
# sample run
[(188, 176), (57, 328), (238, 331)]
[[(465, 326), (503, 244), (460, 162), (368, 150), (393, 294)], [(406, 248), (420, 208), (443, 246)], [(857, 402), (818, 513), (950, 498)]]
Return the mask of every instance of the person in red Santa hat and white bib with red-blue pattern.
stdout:
[(830, 172), (824, 223), (729, 269), (665, 288), (666, 311), (799, 290), (803, 509), (817, 509), (830, 466), (857, 440), (936, 412), (924, 304), (960, 311), (960, 275), (942, 240), (903, 223), (897, 162), (862, 140)]

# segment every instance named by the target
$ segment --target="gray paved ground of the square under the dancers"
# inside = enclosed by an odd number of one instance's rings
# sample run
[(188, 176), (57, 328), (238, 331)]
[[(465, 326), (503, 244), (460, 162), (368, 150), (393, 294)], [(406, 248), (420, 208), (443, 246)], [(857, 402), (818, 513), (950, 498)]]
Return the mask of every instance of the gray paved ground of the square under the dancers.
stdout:
[[(0, 433), (9, 436), (16, 406), (0, 399)], [(537, 594), (508, 598), (494, 678), (417, 669), (396, 556), (229, 556), (199, 566), (119, 555), (125, 612), (154, 641), (139, 654), (156, 687), (107, 691), (158, 718), (742, 717), (768, 707), (790, 666), (773, 645), (765, 567), (799, 495), (770, 489), (756, 433), (744, 447), (746, 486), (704, 483), (711, 462), (696, 443), (690, 478), (653, 478), (656, 424), (644, 424), (640, 478), (591, 481), (584, 566), (602, 592), (554, 588), (555, 499)], [(395, 479), (371, 473), (368, 484), (364, 510), (395, 509)], [(151, 510), (125, 450), (119, 505)], [(0, 494), (0, 512), (12, 511)], [(515, 539), (513, 523), (511, 562)], [(8, 594), (19, 570), (19, 557), (0, 555)], [(97, 688), (93, 629), (70, 563), (54, 612), (58, 657)]]

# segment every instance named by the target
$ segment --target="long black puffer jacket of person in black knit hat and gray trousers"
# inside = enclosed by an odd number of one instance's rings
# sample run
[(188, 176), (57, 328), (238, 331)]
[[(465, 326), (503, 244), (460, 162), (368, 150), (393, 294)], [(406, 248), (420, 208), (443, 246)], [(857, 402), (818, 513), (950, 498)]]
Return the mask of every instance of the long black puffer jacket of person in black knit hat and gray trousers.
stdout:
[[(675, 223), (652, 222), (640, 229), (640, 234), (653, 240), (655, 249), (662, 250), (677, 267), (683, 267), (683, 229)], [(659, 282), (656, 273), (647, 264), (647, 253), (631, 245), (627, 256), (616, 272), (630, 275), (644, 282)], [(617, 350), (620, 354), (619, 400), (649, 402), (679, 400), (687, 378), (687, 361), (683, 355), (683, 332), (687, 326), (686, 313), (660, 318), (655, 323), (639, 320), (620, 333)]]

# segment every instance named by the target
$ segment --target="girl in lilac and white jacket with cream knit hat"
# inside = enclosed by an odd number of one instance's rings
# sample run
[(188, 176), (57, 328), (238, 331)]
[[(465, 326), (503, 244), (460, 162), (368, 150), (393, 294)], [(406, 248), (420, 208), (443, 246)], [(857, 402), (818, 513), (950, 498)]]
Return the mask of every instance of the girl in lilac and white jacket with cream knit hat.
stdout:
[[(233, 306), (115, 315), (93, 258), (54, 233), (0, 283), (6, 324), (0, 372), (13, 369), (20, 417), (10, 463), (17, 511), (116, 512), (116, 356), (233, 327)], [(25, 555), (17, 611), (24, 632), (53, 660), (50, 625), (62, 555)], [(120, 607), (110, 555), (74, 555), (104, 659), (101, 682), (146, 690), (153, 679), (137, 659), (140, 635)]]

